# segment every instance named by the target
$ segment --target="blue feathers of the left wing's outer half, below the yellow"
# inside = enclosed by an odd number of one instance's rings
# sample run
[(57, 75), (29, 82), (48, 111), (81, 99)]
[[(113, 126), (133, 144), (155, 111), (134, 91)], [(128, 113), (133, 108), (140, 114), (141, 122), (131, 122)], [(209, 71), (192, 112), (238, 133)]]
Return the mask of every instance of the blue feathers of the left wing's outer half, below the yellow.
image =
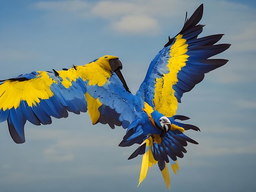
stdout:
[[(39, 102), (35, 105), (33, 104), (33, 106), (29, 106), (25, 100), (20, 100), (17, 108), (13, 106), (5, 111), (3, 109), (0, 110), (0, 122), (7, 120), (9, 132), (16, 143), (25, 142), (24, 125), (27, 120), (34, 125), (47, 125), (52, 123), (51, 116), (55, 118), (67, 117), (67, 110), (76, 114), (87, 111), (87, 102), (84, 96), (86, 86), (81, 78), (73, 81), (72, 86), (69, 88), (65, 88), (61, 84), (62, 79), (59, 76), (52, 72), (49, 72), (48, 75), (57, 82), (52, 83), (50, 86), (53, 96), (48, 99), (39, 98)], [(40, 79), (40, 77), (39, 72), (34, 71), (8, 80), (9, 82), (22, 82), (35, 78)], [(2, 80), (0, 85), (3, 85), (5, 81)]]

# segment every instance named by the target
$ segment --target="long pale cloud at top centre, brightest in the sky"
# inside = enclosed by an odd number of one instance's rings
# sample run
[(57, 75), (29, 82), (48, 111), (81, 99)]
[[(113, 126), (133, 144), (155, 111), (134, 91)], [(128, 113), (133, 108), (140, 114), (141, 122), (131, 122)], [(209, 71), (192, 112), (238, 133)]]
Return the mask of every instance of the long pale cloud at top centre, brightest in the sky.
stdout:
[[(180, 12), (184, 5), (190, 3), (184, 1), (168, 0), (138, 0), (138, 1), (99, 1), (89, 3), (79, 0), (74, 1), (47, 1), (35, 4), (36, 9), (59, 12), (72, 12), (80, 18), (103, 18), (108, 20), (109, 29), (119, 33), (132, 33), (142, 35), (157, 34), (161, 26), (162, 18), (173, 18), (177, 15), (184, 16), (185, 11)], [(50, 18), (65, 18), (50, 17)], [(172, 23), (175, 22), (172, 21)]]

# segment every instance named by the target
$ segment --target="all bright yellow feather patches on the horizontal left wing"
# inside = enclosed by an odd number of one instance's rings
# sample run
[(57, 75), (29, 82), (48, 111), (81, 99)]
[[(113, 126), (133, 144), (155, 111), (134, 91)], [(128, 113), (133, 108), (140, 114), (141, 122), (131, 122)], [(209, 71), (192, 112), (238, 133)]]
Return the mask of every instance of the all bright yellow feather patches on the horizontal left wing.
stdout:
[[(57, 72), (62, 78), (61, 83), (65, 88), (72, 86), (72, 82), (76, 81), (79, 77), (83, 78), (83, 80), (89, 80), (89, 85), (98, 84), (99, 86), (103, 86), (112, 75), (109, 60), (114, 58), (117, 57), (103, 56), (95, 62), (77, 66), (76, 69), (72, 67), (68, 70)], [(25, 81), (4, 81), (4, 83), (0, 85), (0, 109), (4, 111), (13, 107), (16, 109), (20, 105), (21, 100), (26, 101), (28, 106), (32, 107), (36, 105), (36, 103), (40, 103), (40, 99), (49, 99), (52, 97), (54, 94), (50, 87), (52, 83), (57, 83), (56, 80), (52, 79), (47, 71), (38, 71), (38, 73), (36, 78)], [(94, 101), (94, 99), (91, 98), (90, 100), (92, 103), (90, 104), (89, 102), (89, 106), (92, 106), (93, 103), (95, 103), (97, 107), (102, 105), (99, 99)], [(90, 109), (90, 111), (89, 113), (93, 116), (93, 119), (99, 116), (97, 110)], [(93, 122), (96, 123), (96, 121)]]

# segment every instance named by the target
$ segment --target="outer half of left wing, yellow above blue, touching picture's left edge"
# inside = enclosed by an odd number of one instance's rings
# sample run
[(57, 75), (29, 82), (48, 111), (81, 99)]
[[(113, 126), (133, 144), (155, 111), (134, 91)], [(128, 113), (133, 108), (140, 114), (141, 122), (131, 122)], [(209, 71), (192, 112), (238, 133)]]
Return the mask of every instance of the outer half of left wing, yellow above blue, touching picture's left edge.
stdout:
[(87, 111), (83, 80), (74, 75), (74, 68), (59, 72), (70, 80), (62, 79), (54, 72), (34, 71), (1, 83), (0, 122), (7, 121), (16, 143), (25, 142), (27, 120), (34, 125), (47, 125), (52, 123), (51, 116), (67, 117), (67, 110), (76, 114)]

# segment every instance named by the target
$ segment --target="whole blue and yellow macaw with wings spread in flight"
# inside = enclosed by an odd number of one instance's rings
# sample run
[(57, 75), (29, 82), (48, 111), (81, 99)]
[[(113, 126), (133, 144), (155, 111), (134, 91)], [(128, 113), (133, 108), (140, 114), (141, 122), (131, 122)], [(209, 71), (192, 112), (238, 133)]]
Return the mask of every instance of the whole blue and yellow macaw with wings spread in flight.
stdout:
[(198, 38), (204, 25), (203, 5), (186, 19), (184, 27), (151, 61), (146, 77), (133, 95), (121, 74), (118, 57), (103, 56), (86, 65), (61, 71), (33, 71), (0, 81), (0, 122), (7, 121), (14, 142), (24, 143), (26, 121), (34, 125), (52, 123), (51, 117), (66, 118), (68, 112), (89, 112), (92, 124), (108, 124), (112, 129), (127, 129), (119, 146), (139, 144), (129, 159), (143, 154), (139, 184), (148, 167), (156, 163), (167, 188), (170, 176), (179, 170), (187, 142), (198, 144), (184, 134), (200, 130), (194, 125), (177, 122), (187, 120), (176, 115), (181, 97), (203, 80), (204, 74), (225, 65), (228, 60), (208, 59), (229, 48), (214, 45), (223, 34)]

